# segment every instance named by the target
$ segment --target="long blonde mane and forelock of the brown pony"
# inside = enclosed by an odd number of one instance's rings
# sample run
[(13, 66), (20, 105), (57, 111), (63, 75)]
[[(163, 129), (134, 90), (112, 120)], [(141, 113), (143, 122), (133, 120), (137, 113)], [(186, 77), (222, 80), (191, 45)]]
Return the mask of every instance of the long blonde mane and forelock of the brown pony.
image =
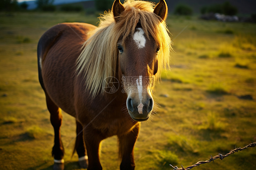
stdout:
[[(153, 13), (155, 4), (146, 1), (127, 0), (123, 4), (125, 11), (118, 16), (115, 23), (113, 12), (102, 15), (99, 27), (90, 32), (90, 38), (83, 44), (82, 52), (77, 59), (77, 73), (84, 74), (86, 90), (92, 97), (103, 93), (103, 81), (106, 77), (115, 77), (118, 56), (117, 42), (133, 34), (139, 22), (147, 37), (152, 36), (160, 46), (158, 72), (160, 77), (163, 65), (169, 66), (169, 53), (172, 42), (168, 35), (165, 21)], [(107, 87), (107, 82), (106, 86)]]

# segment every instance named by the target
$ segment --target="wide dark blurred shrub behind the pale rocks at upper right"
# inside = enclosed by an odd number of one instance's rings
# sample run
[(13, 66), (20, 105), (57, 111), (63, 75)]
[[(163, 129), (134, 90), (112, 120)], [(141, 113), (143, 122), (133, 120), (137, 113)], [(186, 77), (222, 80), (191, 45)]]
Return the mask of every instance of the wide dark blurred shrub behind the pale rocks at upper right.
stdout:
[(225, 15), (236, 15), (238, 12), (237, 7), (226, 1), (223, 4), (214, 4), (208, 7), (201, 8), (201, 14), (206, 13), (220, 13)]

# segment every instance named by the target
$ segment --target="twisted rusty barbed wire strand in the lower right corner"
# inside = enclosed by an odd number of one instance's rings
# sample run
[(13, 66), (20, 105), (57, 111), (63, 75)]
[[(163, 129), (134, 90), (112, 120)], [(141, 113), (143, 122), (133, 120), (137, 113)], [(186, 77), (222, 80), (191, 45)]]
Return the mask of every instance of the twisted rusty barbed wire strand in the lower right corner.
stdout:
[(251, 144), (247, 145), (246, 147), (235, 148), (234, 150), (231, 150), (226, 155), (222, 155), (220, 153), (218, 155), (214, 156), (214, 157), (212, 157), (212, 155), (211, 155), (211, 158), (209, 160), (207, 160), (207, 161), (199, 161), (199, 162), (197, 162), (196, 164), (194, 164), (192, 166), (188, 166), (187, 168), (184, 168), (182, 165), (181, 165), (182, 168), (178, 168), (177, 166), (172, 166), (171, 164), (170, 164), (170, 166), (174, 168), (173, 170), (189, 170), (189, 169), (192, 169), (192, 168), (194, 168), (196, 166), (199, 166), (199, 165), (202, 165), (202, 164), (214, 161), (215, 159), (218, 159), (218, 158), (220, 158), (222, 160), (222, 159), (226, 158), (228, 155), (234, 154), (235, 152), (238, 152), (238, 151), (241, 151), (241, 150), (245, 150), (248, 147), (255, 147), (255, 146), (256, 146), (256, 142), (252, 142)]

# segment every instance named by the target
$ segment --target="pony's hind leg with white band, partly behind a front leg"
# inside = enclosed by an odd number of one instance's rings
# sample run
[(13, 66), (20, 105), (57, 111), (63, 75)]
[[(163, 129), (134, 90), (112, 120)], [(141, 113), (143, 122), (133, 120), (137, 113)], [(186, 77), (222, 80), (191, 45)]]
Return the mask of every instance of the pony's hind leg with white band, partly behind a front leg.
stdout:
[(77, 139), (75, 149), (78, 154), (78, 162), (81, 168), (86, 169), (88, 166), (88, 156), (85, 152), (85, 142), (83, 136), (83, 126), (77, 121)]

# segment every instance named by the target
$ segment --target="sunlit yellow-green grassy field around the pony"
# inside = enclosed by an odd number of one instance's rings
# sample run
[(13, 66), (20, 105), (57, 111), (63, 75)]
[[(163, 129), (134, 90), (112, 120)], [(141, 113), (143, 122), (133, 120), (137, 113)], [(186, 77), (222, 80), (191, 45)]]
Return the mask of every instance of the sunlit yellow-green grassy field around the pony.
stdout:
[[(52, 169), (54, 133), (38, 82), (37, 42), (57, 23), (97, 21), (84, 13), (0, 13), (0, 169)], [(172, 15), (167, 23), (171, 69), (156, 87), (158, 114), (142, 123), (137, 170), (187, 167), (256, 141), (256, 24)], [(66, 169), (79, 169), (74, 141), (66, 146), (75, 136), (75, 119), (63, 113)], [(102, 142), (103, 169), (119, 169), (117, 148), (116, 137)], [(256, 169), (255, 159), (249, 148), (193, 169)]]

